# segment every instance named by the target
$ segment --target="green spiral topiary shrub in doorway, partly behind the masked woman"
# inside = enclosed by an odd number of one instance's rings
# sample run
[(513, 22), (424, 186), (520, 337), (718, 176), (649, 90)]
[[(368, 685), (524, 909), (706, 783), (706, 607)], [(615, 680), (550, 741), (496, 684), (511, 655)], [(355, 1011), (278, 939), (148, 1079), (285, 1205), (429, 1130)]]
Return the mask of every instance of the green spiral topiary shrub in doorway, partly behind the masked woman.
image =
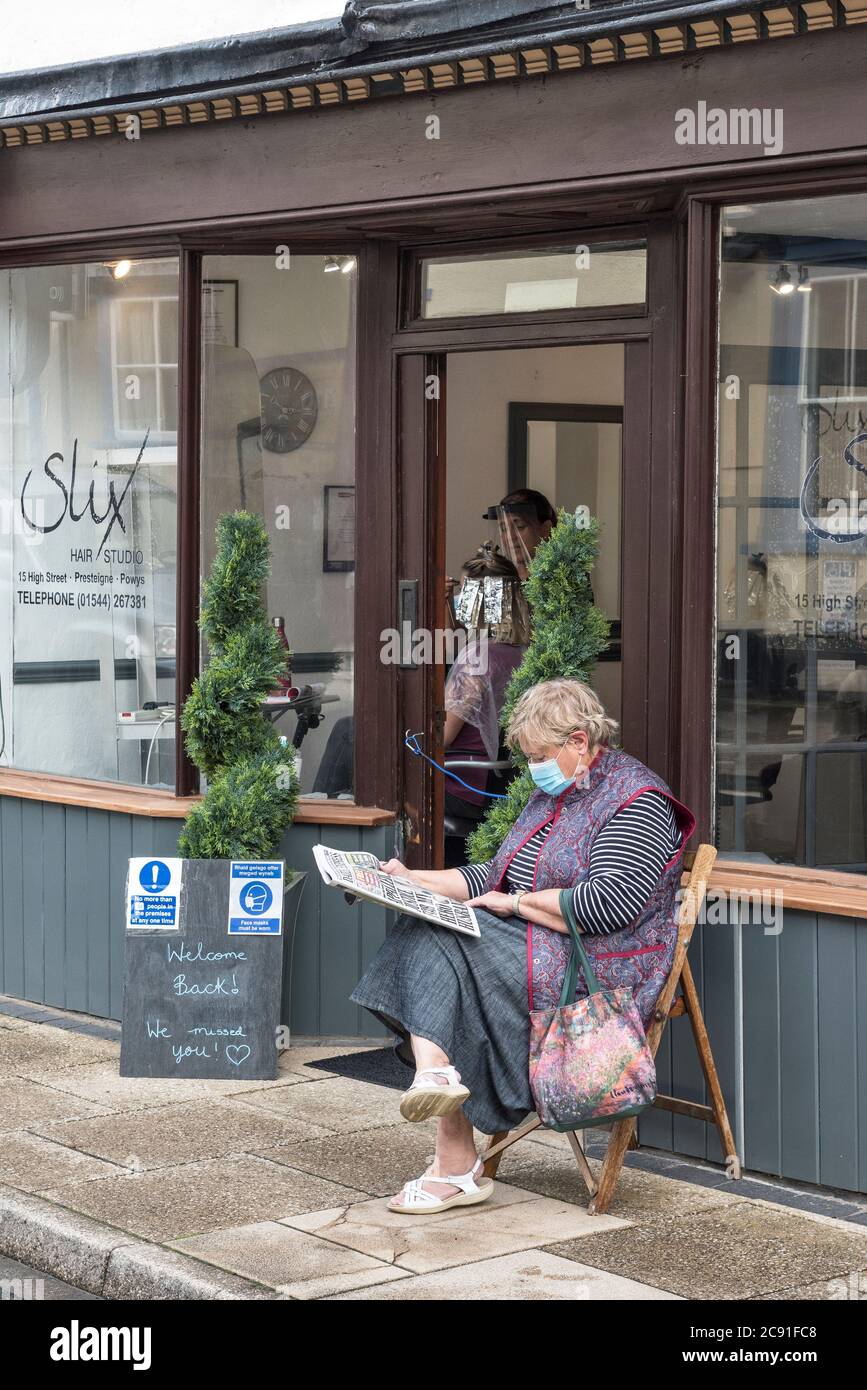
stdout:
[[(542, 541), (529, 564), (527, 598), (532, 613), (532, 638), (524, 660), (506, 689), (502, 723), (506, 728), (521, 695), (557, 676), (588, 681), (596, 659), (609, 645), (610, 624), (593, 603), (591, 570), (599, 552), (599, 521), (579, 524), (560, 509), (557, 525)], [(527, 759), (514, 749), (522, 769), (504, 801), (490, 803), (488, 815), (467, 840), (470, 863), (484, 863), (496, 853), (535, 790)]]

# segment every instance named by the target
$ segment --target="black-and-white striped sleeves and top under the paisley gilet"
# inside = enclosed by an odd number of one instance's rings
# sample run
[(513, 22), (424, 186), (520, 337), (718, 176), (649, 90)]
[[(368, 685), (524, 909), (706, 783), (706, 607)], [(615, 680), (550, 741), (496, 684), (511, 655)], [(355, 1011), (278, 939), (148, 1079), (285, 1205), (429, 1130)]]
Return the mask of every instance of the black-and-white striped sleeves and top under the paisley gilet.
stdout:
[[(534, 869), (552, 827), (542, 826), (518, 849), (506, 873), (506, 888), (532, 891)], [(631, 926), (650, 899), (663, 866), (681, 847), (674, 808), (657, 791), (642, 791), (616, 812), (596, 835), (589, 873), (574, 890), (575, 917), (584, 931), (620, 931)], [(470, 897), (485, 891), (492, 860), (464, 865)]]

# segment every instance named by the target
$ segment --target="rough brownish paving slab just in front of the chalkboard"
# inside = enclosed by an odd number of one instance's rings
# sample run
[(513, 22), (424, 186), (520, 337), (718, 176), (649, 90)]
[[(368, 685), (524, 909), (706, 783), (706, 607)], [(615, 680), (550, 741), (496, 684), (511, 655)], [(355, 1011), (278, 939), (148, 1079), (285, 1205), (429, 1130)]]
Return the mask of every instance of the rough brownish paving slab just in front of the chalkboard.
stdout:
[(318, 1125), (222, 1098), (31, 1129), (44, 1138), (136, 1170), (225, 1158), (325, 1133)]

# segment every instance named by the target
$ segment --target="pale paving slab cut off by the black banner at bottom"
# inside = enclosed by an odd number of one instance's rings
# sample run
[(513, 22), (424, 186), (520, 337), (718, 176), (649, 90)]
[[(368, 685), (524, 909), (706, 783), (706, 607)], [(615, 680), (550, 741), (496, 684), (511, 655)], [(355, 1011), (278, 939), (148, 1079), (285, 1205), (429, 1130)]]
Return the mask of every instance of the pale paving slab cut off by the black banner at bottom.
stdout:
[(504, 1302), (531, 1302), (552, 1298), (570, 1301), (588, 1300), (595, 1302), (621, 1301), (668, 1301), (677, 1294), (664, 1289), (603, 1269), (585, 1265), (571, 1265), (542, 1250), (527, 1250), (497, 1259), (482, 1259), (478, 1264), (460, 1265), (454, 1269), (439, 1269), (434, 1273), (417, 1275), (400, 1283), (356, 1289), (352, 1293), (338, 1293), (325, 1302), (343, 1300), (370, 1300), (393, 1302), (395, 1300), (500, 1300)]

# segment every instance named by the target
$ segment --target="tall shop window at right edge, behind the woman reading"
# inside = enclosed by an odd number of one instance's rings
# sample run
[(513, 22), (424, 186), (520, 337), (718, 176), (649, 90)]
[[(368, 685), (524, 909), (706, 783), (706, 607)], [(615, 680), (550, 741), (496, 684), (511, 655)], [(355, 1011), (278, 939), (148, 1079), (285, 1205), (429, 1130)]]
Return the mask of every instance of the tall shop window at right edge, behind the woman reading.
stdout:
[(717, 842), (867, 870), (867, 197), (722, 214)]

